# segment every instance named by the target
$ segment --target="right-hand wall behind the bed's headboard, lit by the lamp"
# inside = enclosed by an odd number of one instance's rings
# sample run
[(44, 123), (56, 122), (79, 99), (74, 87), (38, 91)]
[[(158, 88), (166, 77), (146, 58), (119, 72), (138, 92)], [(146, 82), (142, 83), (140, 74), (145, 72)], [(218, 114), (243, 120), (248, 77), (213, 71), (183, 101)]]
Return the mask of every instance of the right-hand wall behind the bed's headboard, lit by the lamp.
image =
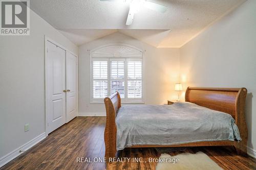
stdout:
[[(186, 86), (246, 87), (248, 146), (256, 149), (256, 1), (249, 0), (181, 47)], [(249, 149), (250, 154), (252, 150)], [(255, 152), (255, 151), (254, 151)]]

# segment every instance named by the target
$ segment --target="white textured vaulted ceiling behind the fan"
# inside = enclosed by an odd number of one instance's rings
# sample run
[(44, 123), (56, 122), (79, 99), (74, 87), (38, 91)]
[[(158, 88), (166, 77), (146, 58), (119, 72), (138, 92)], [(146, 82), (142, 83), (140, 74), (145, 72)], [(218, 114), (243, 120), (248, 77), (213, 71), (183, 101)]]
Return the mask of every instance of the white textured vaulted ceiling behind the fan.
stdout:
[(167, 6), (167, 11), (142, 8), (131, 26), (125, 25), (129, 3), (122, 0), (33, 0), (30, 7), (78, 45), (119, 31), (156, 47), (180, 47), (245, 0), (152, 2)]

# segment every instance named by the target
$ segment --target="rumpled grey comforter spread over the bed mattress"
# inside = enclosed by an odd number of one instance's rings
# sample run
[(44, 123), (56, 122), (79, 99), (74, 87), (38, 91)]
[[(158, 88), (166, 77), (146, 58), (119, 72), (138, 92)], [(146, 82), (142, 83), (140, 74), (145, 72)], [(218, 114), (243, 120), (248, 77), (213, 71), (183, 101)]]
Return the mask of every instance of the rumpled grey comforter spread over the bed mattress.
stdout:
[(188, 102), (122, 106), (116, 126), (117, 150), (143, 144), (242, 140), (232, 116)]

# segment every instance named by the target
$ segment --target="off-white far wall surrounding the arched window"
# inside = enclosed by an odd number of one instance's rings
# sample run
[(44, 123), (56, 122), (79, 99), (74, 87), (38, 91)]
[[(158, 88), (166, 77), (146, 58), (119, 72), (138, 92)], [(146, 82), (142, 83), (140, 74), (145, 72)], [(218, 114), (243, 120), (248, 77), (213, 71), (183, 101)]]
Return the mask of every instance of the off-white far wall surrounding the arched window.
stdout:
[(124, 43), (134, 45), (145, 52), (145, 103), (166, 104), (168, 99), (176, 99), (175, 83), (179, 81), (179, 48), (156, 48), (121, 33), (113, 33), (103, 38), (83, 44), (79, 55), (79, 113), (105, 113), (104, 104), (90, 104), (90, 55), (101, 45)]

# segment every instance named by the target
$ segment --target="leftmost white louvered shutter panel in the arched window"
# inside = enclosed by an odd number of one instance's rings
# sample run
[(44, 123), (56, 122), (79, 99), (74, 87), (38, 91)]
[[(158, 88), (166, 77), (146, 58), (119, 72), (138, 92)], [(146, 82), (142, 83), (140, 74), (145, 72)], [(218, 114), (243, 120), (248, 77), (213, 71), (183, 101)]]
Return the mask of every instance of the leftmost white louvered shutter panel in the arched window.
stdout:
[(108, 61), (93, 61), (93, 98), (108, 96)]

